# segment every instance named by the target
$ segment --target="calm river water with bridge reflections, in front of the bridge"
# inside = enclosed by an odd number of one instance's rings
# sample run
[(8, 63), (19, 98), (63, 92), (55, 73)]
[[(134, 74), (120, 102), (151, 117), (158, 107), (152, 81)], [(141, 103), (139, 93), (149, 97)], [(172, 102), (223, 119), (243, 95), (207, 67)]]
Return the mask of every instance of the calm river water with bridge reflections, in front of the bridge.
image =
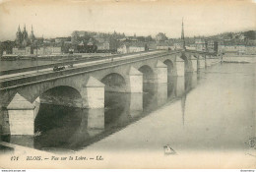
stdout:
[(92, 143), (106, 149), (166, 143), (177, 149), (244, 149), (255, 137), (255, 122), (255, 64), (224, 63), (169, 77), (168, 84), (145, 84), (143, 93), (105, 92), (104, 109), (40, 104), (36, 136), (5, 141), (47, 151)]

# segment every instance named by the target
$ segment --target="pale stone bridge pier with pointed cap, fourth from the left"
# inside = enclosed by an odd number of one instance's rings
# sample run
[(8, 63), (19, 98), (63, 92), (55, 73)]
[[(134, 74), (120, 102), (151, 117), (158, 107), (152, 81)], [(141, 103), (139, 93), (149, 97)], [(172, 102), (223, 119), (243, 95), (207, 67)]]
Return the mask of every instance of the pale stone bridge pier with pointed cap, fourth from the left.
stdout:
[(157, 83), (168, 83), (167, 81), (167, 66), (163, 64), (160, 60), (156, 65), (156, 73), (157, 73)]

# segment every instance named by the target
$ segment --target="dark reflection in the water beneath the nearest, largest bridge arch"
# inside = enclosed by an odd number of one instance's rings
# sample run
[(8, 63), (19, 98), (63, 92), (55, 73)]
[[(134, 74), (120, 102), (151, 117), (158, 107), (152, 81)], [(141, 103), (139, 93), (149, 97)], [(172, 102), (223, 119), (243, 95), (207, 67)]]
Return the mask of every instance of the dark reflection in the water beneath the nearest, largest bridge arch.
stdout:
[(70, 139), (86, 125), (83, 111), (80, 108), (40, 104), (39, 112), (34, 120), (34, 147), (69, 147)]

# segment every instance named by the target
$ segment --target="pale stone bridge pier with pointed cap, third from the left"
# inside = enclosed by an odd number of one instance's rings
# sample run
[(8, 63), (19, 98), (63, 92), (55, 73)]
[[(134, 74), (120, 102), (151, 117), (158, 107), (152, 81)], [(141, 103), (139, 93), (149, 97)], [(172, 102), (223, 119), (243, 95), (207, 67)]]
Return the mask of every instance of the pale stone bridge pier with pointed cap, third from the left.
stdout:
[(129, 72), (130, 92), (143, 92), (143, 74), (131, 67)]

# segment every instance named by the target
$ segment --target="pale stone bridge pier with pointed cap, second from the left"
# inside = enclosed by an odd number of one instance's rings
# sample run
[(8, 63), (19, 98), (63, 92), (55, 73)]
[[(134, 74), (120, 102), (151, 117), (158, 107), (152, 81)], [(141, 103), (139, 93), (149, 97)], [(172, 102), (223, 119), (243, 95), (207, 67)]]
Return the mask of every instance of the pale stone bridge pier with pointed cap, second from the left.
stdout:
[(104, 85), (90, 77), (81, 90), (83, 107), (88, 109), (104, 108)]

